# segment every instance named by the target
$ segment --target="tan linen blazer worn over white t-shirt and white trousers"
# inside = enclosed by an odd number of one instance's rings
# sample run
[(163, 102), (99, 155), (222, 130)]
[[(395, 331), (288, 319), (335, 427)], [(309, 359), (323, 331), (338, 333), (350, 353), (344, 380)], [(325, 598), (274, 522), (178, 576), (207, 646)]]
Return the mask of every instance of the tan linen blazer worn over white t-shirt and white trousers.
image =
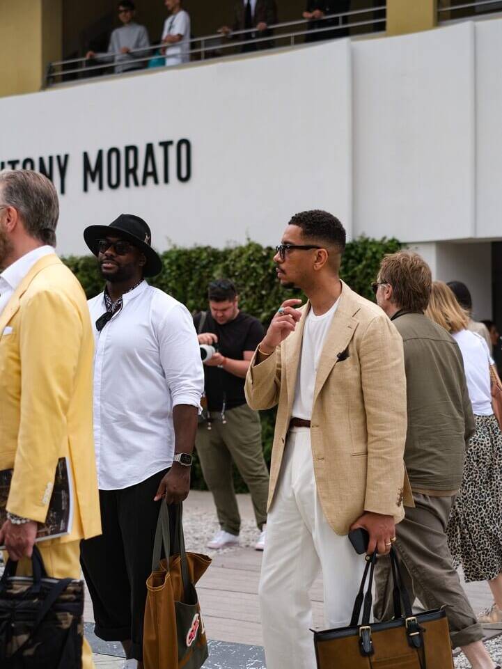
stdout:
[[(324, 341), (315, 379), (311, 418), (317, 494), (339, 535), (363, 510), (404, 517), (413, 505), (405, 452), (407, 409), (402, 339), (384, 312), (343, 283), (338, 308)], [(310, 304), (302, 307), (295, 332), (246, 377), (252, 409), (277, 410), (269, 503), (274, 501), (292, 404), (301, 340)]]

